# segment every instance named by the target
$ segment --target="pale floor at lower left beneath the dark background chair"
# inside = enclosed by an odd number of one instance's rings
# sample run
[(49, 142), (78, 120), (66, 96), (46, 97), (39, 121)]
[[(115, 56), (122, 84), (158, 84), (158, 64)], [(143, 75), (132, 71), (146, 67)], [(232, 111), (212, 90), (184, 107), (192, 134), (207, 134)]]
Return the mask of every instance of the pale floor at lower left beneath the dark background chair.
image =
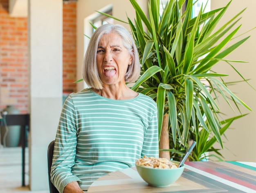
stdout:
[[(26, 153), (28, 150), (26, 150)], [(28, 156), (26, 154), (26, 156)], [(26, 160), (27, 157), (26, 157)], [(25, 184), (29, 183), (28, 163), (26, 163)], [(49, 191), (29, 191), (21, 186), (21, 148), (0, 145), (0, 193), (49, 193)]]

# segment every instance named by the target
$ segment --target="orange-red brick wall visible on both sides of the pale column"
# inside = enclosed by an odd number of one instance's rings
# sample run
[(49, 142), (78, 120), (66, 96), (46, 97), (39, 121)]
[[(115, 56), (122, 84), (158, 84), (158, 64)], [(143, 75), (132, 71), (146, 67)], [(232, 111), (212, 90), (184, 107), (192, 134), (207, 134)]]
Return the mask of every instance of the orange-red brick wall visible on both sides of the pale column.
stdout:
[[(29, 111), (27, 18), (9, 16), (0, 0), (0, 110)], [(76, 92), (76, 3), (63, 4), (63, 93)]]

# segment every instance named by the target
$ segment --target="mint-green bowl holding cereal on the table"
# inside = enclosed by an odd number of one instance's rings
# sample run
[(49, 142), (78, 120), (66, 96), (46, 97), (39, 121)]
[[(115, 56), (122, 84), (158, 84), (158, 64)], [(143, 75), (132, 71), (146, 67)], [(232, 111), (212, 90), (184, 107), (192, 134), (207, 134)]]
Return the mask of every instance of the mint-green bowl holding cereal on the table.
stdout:
[[(180, 164), (180, 162), (177, 161), (171, 162), (178, 165)], [(150, 168), (146, 166), (140, 166), (136, 163), (135, 166), (141, 178), (150, 186), (156, 187), (170, 186), (180, 178), (184, 171), (184, 164), (179, 168), (172, 169)]]

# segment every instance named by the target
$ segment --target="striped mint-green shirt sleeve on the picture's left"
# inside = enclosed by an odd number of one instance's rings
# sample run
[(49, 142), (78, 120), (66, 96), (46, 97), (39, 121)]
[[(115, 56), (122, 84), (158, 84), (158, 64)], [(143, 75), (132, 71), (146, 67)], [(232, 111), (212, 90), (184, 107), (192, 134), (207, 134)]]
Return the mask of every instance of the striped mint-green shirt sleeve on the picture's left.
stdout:
[(78, 181), (81, 184), (81, 180), (74, 176), (71, 171), (75, 163), (77, 144), (74, 117), (74, 104), (72, 99), (68, 98), (63, 105), (58, 124), (51, 171), (52, 182), (61, 193), (70, 182)]

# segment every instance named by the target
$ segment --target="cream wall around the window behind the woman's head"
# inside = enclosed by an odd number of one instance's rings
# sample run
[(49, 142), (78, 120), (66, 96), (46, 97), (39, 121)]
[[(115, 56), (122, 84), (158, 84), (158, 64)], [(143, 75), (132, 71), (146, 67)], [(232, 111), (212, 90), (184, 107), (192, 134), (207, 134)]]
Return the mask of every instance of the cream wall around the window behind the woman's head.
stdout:
[[(137, 0), (139, 5), (141, 7), (146, 8), (147, 7), (147, 0)], [(82, 78), (82, 65), (83, 65), (83, 56), (84, 56), (84, 27), (85, 25), (89, 25), (88, 23), (85, 23), (85, 18), (88, 18), (88, 16), (91, 16), (92, 14), (95, 14), (95, 11), (99, 11), (102, 8), (112, 5), (112, 15), (116, 18), (119, 18), (124, 21), (127, 20), (127, 16), (132, 19), (135, 18), (135, 11), (132, 7), (132, 4), (129, 0), (79, 0), (77, 1), (77, 80)], [(146, 9), (144, 9), (146, 10)], [(115, 23), (119, 23), (121, 25), (124, 25), (129, 29), (128, 25), (125, 25), (121, 22), (115, 21)], [(90, 26), (90, 25), (89, 25)], [(86, 34), (90, 36), (90, 34)], [(83, 82), (77, 83), (77, 90), (83, 89)]]

